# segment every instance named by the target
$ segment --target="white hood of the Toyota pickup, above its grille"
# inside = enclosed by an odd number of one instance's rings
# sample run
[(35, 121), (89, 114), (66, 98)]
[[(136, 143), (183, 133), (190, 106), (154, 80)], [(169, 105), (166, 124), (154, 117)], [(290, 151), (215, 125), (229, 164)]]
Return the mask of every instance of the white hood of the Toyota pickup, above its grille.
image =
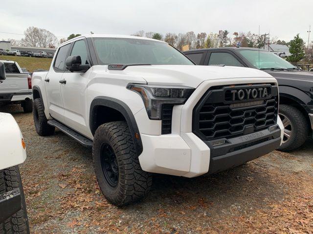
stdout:
[(204, 80), (211, 79), (271, 77), (268, 73), (258, 69), (230, 66), (140, 65), (129, 66), (122, 71), (109, 71), (139, 76), (151, 85), (182, 85), (192, 88), (198, 87)]

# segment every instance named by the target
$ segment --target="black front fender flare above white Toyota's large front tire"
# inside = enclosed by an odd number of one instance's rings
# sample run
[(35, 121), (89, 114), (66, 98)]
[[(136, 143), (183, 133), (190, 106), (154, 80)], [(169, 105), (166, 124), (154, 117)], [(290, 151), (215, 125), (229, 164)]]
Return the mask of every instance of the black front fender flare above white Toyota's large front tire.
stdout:
[[(92, 135), (94, 135), (96, 131), (96, 118), (95, 118), (95, 107), (97, 106), (105, 106), (110, 107), (112, 109), (115, 109), (116, 111), (119, 111), (124, 118), (126, 119), (126, 122), (129, 126), (134, 146), (137, 151), (137, 155), (139, 156), (142, 153), (142, 141), (139, 133), (139, 129), (135, 120), (135, 117), (131, 111), (131, 109), (121, 100), (116, 98), (110, 98), (105, 96), (99, 96), (92, 100), (90, 104), (90, 112), (89, 112), (89, 127)], [(135, 137), (137, 136), (137, 137)]]

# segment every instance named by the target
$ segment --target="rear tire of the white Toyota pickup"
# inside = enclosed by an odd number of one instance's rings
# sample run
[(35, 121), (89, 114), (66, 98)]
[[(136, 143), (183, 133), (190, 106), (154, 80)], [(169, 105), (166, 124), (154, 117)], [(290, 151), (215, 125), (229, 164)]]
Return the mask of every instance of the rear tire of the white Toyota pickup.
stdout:
[(33, 104), (33, 117), (36, 132), (40, 136), (50, 136), (54, 134), (55, 127), (47, 123), (45, 117), (44, 104), (41, 98), (36, 98)]

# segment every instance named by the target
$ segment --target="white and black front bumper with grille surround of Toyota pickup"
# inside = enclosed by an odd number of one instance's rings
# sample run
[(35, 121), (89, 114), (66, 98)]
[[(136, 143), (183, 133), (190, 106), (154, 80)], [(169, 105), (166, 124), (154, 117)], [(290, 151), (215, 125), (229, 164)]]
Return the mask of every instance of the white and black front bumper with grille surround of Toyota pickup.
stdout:
[[(268, 79), (268, 80), (267, 80)], [(192, 133), (192, 110), (210, 86), (229, 83), (275, 82), (273, 78), (224, 79), (204, 81), (184, 105), (173, 108), (172, 134), (161, 135), (161, 121), (150, 120), (143, 108), (134, 117), (138, 124), (143, 151), (139, 155), (144, 171), (174, 176), (195, 177), (215, 173), (263, 156), (277, 149), (283, 139), (283, 124), (277, 117), (276, 128), (227, 139), (224, 146), (212, 146)], [(275, 126), (275, 125), (274, 125)]]

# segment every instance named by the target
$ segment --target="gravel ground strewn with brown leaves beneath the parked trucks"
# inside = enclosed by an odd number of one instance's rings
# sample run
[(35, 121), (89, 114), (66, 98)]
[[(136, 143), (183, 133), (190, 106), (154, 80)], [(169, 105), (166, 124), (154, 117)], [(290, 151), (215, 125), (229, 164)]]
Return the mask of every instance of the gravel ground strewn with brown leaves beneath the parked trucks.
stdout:
[(60, 131), (38, 136), (19, 106), (0, 111), (15, 117), (26, 141), (32, 234), (313, 233), (312, 140), (216, 175), (156, 175), (148, 197), (116, 208), (99, 190), (89, 149)]

